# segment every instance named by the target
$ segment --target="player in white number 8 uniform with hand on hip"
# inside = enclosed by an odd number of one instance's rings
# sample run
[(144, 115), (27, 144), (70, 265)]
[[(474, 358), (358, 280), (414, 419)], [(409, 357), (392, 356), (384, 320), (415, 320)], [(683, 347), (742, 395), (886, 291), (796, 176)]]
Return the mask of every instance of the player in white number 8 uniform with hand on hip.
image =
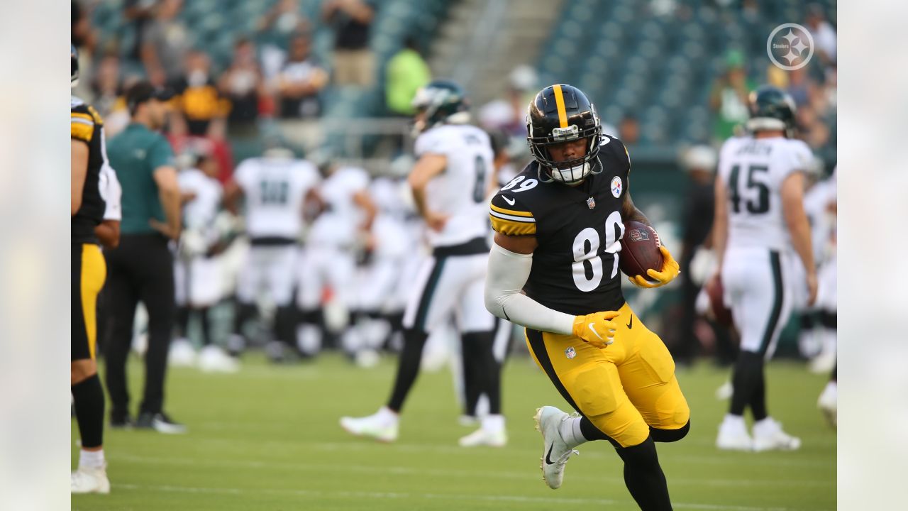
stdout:
[(495, 317), (484, 305), (489, 255), (486, 215), (492, 149), (489, 135), (469, 120), (459, 85), (433, 81), (419, 89), (415, 152), (419, 160), (410, 187), (419, 215), (429, 227), (432, 255), (414, 278), (404, 313), (404, 346), (394, 389), (386, 406), (371, 416), (342, 417), (353, 435), (390, 442), (398, 436), (400, 410), (419, 373), (429, 333), (456, 316), (463, 353), (481, 378), (480, 392), (489, 395), (489, 416), (480, 429), (460, 439), (461, 446), (504, 446), (500, 372), (492, 353)]

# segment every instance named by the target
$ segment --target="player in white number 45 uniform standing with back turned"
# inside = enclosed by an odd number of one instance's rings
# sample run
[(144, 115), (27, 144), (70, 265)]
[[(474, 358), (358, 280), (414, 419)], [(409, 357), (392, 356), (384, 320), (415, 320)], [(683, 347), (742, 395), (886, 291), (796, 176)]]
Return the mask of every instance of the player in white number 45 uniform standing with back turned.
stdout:
[[(791, 315), (795, 282), (792, 268), (804, 266), (807, 304), (816, 299), (816, 268), (810, 226), (804, 214), (804, 170), (813, 156), (804, 142), (790, 138), (795, 105), (772, 86), (751, 95), (747, 129), (731, 138), (719, 155), (716, 177), (716, 255), (741, 336), (741, 353), (732, 376), (731, 406), (719, 426), (716, 446), (762, 451), (796, 449), (766, 411), (765, 360), (775, 351)], [(754, 436), (745, 428), (744, 411), (754, 416)]]

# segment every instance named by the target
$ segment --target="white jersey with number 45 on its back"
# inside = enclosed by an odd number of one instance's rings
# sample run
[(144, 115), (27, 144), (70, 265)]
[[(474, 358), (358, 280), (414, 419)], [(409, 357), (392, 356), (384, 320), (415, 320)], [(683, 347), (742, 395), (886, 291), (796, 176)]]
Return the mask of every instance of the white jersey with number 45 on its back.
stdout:
[(733, 247), (792, 249), (782, 211), (782, 183), (804, 171), (813, 155), (801, 140), (785, 138), (729, 138), (719, 153), (719, 177), (728, 203), (728, 241)]

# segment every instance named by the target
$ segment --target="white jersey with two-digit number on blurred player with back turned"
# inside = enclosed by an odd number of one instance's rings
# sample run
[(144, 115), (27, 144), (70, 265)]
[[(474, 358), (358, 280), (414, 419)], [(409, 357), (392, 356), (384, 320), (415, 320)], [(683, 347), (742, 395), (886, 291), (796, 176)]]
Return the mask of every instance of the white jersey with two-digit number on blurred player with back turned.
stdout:
[(290, 158), (250, 158), (237, 167), (234, 178), (246, 195), (250, 237), (300, 235), (303, 198), (319, 182), (315, 165)]

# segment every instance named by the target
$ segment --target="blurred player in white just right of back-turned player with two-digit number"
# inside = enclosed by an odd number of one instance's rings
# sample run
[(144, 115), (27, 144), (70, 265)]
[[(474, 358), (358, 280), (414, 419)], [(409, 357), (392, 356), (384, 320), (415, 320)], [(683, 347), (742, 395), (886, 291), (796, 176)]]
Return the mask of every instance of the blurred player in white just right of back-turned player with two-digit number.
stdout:
[[(305, 356), (313, 356), (321, 348), (322, 318), (332, 334), (341, 335), (348, 354), (358, 350), (360, 343), (347, 327), (356, 305), (357, 256), (375, 218), (369, 174), (359, 167), (326, 165), (326, 177), (316, 195), (322, 211), (312, 223), (297, 265), (300, 324), (296, 336)], [(326, 286), (331, 298), (322, 304)]]

